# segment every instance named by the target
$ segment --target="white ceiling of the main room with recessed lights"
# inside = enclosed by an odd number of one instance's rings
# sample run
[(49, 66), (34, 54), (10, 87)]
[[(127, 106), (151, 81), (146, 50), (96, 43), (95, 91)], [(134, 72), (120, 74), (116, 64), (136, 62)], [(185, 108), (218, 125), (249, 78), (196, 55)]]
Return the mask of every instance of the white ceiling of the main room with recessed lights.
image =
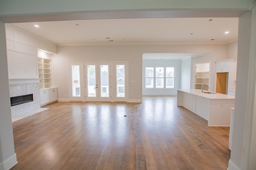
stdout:
[(136, 18), (12, 25), (57, 45), (228, 44), (238, 39), (238, 18)]

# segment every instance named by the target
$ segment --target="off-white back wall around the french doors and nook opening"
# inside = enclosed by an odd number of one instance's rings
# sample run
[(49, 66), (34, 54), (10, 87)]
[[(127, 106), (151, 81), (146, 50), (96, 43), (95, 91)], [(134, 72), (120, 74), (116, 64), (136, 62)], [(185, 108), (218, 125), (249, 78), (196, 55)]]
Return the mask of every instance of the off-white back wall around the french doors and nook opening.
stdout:
[[(69, 99), (68, 63), (78, 61), (128, 61), (129, 100), (142, 99), (142, 55), (144, 53), (212, 53), (210, 59), (226, 59), (226, 45), (102, 45), (60, 46), (52, 55), (53, 86), (58, 87), (58, 98)], [(194, 58), (194, 57), (193, 57)], [(197, 62), (204, 57), (197, 57)], [(206, 61), (209, 57), (206, 57)], [(215, 69), (215, 66), (211, 66)], [(214, 71), (213, 71), (214, 72)], [(213, 79), (214, 80), (214, 79)], [(136, 83), (131, 83), (135, 81)], [(138, 98), (138, 96), (140, 96)]]

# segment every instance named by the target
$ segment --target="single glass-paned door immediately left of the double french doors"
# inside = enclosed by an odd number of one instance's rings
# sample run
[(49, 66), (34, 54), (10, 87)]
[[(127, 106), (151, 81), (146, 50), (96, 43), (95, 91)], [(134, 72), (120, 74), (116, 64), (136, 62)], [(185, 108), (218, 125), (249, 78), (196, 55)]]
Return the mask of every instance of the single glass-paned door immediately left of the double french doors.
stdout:
[(70, 101), (84, 101), (83, 63), (69, 63)]

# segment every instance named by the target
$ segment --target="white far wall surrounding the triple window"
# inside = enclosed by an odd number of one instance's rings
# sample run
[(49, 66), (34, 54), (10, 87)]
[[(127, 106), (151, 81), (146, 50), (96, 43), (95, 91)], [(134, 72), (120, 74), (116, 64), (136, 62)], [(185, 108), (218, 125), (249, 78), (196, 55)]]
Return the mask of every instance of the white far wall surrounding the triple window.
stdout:
[[(174, 89), (146, 89), (145, 68), (146, 67), (174, 67)], [(180, 89), (180, 60), (143, 60), (142, 66), (142, 96), (176, 96)]]

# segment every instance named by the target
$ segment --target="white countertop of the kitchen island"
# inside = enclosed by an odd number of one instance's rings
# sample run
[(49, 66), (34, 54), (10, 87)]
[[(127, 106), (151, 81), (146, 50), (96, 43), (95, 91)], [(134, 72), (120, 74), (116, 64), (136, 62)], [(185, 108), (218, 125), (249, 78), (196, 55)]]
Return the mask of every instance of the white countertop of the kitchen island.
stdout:
[[(235, 96), (233, 95), (227, 95), (227, 94), (220, 94), (220, 93), (215, 93), (215, 94), (207, 94), (207, 93), (202, 93), (200, 89), (178, 89), (178, 91), (189, 93), (189, 94), (194, 94), (196, 96), (201, 96), (203, 98), (208, 98), (211, 100), (234, 100)], [(204, 92), (207, 92), (204, 90)]]

